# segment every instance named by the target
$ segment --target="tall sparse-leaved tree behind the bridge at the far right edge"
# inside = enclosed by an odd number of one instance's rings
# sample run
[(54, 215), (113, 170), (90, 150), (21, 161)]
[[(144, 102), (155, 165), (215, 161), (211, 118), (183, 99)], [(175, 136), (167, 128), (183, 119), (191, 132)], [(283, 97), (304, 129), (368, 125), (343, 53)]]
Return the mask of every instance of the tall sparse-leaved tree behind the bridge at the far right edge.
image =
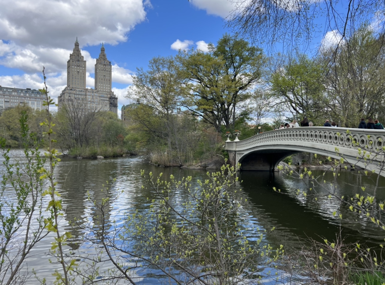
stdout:
[(360, 118), (377, 117), (382, 113), (385, 94), (383, 40), (383, 36), (376, 37), (373, 30), (364, 25), (337, 52), (328, 51), (329, 108), (340, 126), (357, 127)]

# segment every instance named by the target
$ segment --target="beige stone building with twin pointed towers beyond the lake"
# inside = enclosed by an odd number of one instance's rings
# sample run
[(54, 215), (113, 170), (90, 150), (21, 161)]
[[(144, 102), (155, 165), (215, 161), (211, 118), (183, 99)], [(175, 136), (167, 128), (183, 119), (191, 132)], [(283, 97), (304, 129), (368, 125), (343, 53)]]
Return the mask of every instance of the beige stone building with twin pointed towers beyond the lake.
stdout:
[(58, 97), (58, 110), (65, 104), (76, 103), (90, 110), (111, 111), (117, 114), (118, 100), (112, 92), (112, 64), (107, 59), (103, 43), (95, 63), (95, 89), (86, 88), (86, 67), (87, 62), (76, 38), (74, 49), (67, 61), (67, 86)]

